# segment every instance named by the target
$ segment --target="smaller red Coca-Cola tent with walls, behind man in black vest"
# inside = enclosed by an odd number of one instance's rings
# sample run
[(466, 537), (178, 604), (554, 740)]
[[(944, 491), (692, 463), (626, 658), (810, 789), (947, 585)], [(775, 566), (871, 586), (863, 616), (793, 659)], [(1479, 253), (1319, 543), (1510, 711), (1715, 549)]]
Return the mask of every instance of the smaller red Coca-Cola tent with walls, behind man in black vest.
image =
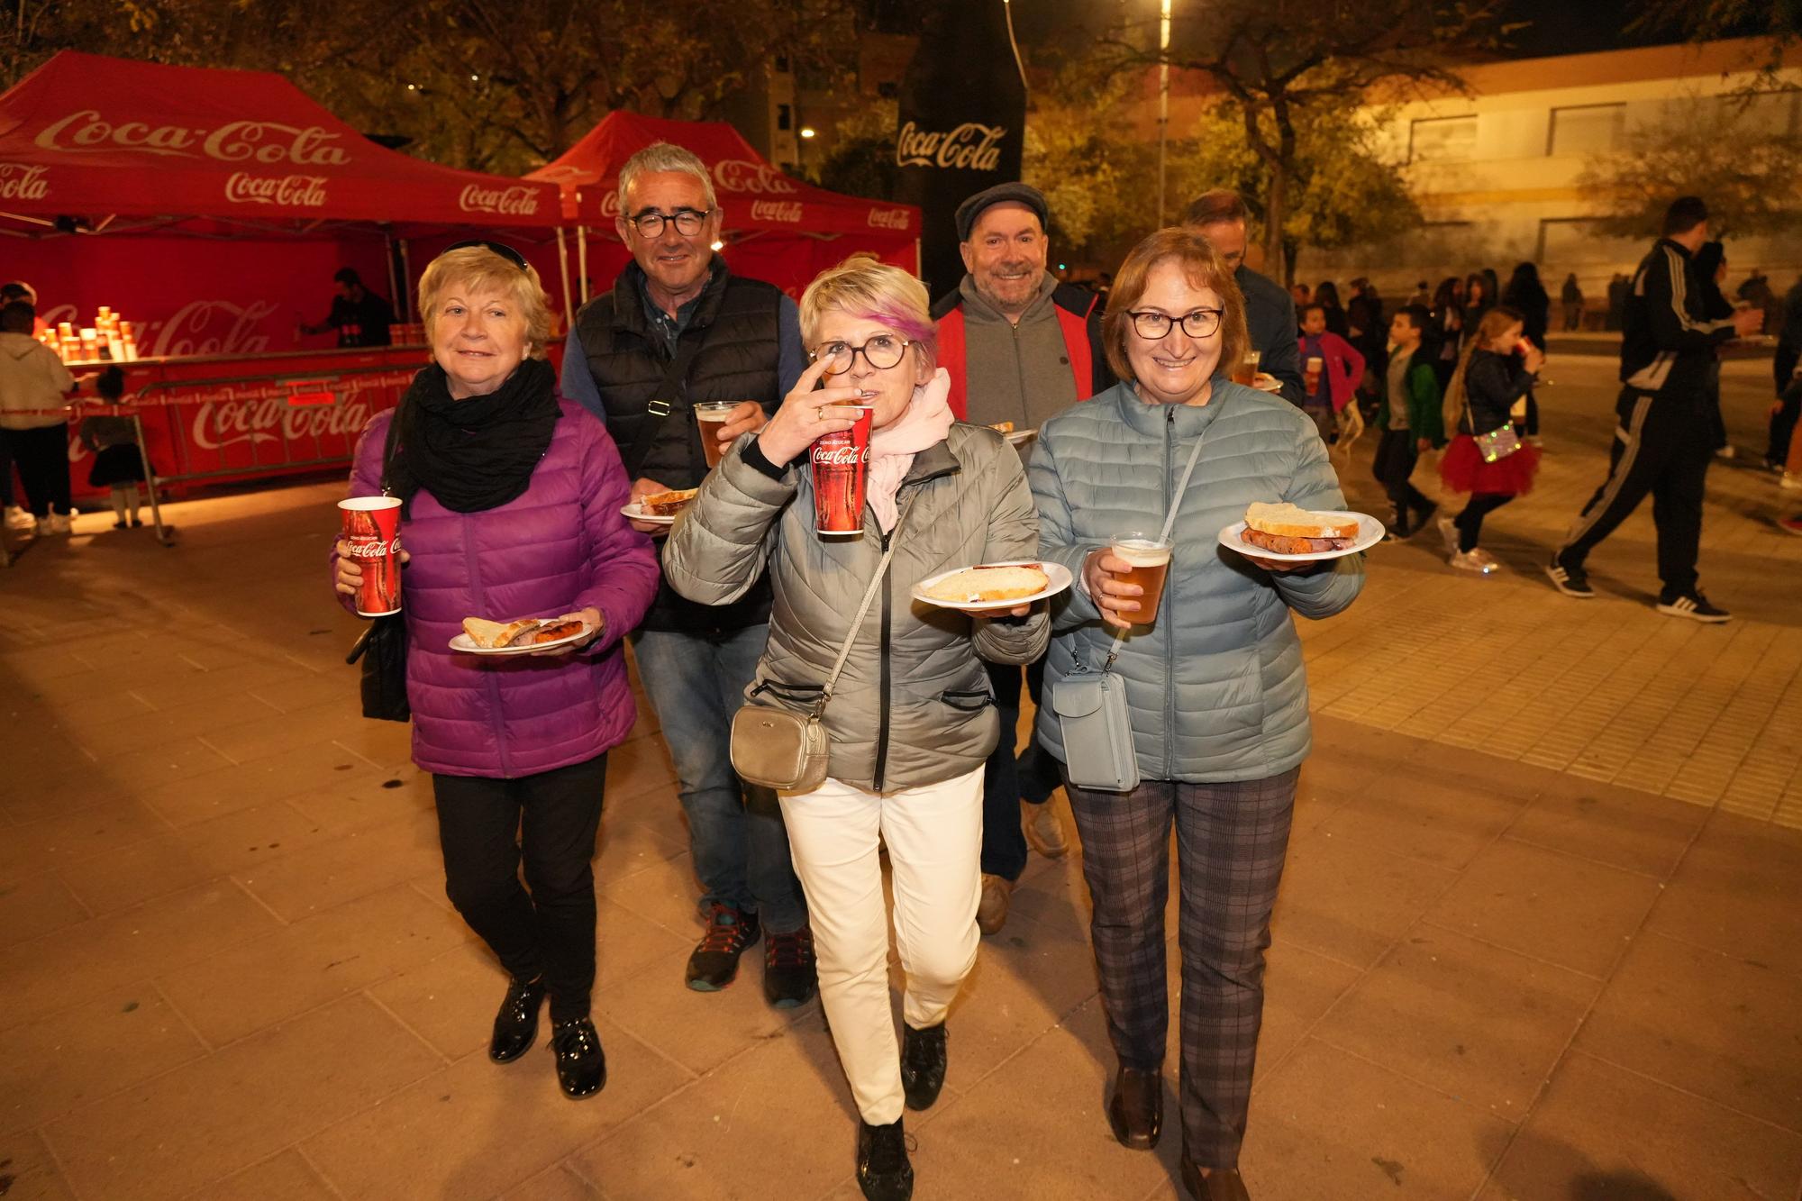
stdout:
[(613, 225), (620, 215), (620, 168), (660, 141), (694, 151), (712, 173), (724, 209), (724, 254), (733, 270), (789, 292), (798, 292), (820, 269), (854, 251), (917, 270), (917, 207), (845, 197), (791, 179), (724, 121), (613, 112), (555, 162), (526, 175), (562, 188), (566, 220), (586, 233), (584, 276), (596, 287), (607, 287), (627, 261)]

